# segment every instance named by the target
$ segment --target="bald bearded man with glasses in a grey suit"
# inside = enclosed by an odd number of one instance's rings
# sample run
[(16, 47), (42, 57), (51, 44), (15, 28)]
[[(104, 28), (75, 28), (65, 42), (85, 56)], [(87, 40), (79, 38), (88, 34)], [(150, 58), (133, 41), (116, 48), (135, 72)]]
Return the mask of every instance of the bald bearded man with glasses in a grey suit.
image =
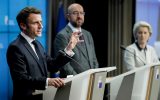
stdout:
[(78, 43), (73, 49), (75, 61), (71, 61), (64, 65), (60, 70), (60, 76), (66, 77), (67, 75), (76, 75), (91, 68), (98, 68), (99, 64), (95, 54), (94, 42), (91, 33), (81, 28), (84, 23), (85, 12), (80, 4), (74, 3), (68, 7), (67, 18), (68, 25), (57, 33), (54, 41), (54, 53), (57, 56), (60, 49), (64, 49), (67, 45), (69, 38), (73, 32), (82, 34), (80, 37), (81, 43)]

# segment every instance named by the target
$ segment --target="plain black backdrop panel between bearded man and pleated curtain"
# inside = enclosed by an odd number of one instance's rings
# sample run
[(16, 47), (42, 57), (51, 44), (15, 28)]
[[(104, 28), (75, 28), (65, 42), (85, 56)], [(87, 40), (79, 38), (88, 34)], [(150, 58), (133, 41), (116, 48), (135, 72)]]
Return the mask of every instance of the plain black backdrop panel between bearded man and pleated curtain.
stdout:
[(83, 28), (92, 33), (99, 67), (107, 66), (107, 1), (76, 0), (84, 7), (85, 22)]

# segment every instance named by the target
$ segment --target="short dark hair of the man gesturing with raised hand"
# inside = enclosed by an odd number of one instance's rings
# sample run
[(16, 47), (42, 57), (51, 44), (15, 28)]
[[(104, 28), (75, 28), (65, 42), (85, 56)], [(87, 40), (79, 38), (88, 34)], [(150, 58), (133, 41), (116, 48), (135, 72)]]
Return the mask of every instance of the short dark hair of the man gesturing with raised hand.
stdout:
[(25, 7), (18, 13), (18, 15), (16, 17), (16, 20), (17, 20), (17, 23), (18, 23), (18, 26), (19, 26), (20, 29), (21, 29), (20, 23), (27, 24), (28, 16), (31, 13), (33, 13), (33, 14), (41, 14), (41, 11), (36, 9), (36, 8), (34, 8), (34, 7)]

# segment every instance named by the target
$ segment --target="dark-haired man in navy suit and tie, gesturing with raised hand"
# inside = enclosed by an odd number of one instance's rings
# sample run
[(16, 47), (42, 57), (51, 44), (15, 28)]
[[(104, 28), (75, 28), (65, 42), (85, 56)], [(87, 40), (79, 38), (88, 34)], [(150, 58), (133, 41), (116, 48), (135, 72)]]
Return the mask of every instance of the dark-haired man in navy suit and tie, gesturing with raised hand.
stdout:
[[(63, 79), (47, 78), (48, 70), (59, 70), (70, 61), (70, 57), (60, 53), (53, 59), (36, 40), (36, 37), (41, 36), (43, 28), (41, 12), (38, 9), (26, 7), (19, 12), (16, 19), (21, 33), (7, 50), (7, 62), (13, 79), (13, 100), (41, 100), (42, 95), (33, 95), (35, 90), (64, 85)], [(65, 48), (66, 55), (69, 54), (67, 52), (72, 52), (78, 41), (79, 35), (73, 33)]]

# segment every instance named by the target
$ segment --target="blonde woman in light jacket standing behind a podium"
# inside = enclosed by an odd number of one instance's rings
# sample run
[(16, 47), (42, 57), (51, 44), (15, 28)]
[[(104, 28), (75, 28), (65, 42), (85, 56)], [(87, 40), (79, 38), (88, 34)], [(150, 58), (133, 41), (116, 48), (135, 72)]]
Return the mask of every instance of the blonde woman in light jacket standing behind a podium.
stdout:
[(135, 43), (125, 49), (124, 72), (147, 64), (158, 63), (158, 56), (154, 48), (147, 45), (152, 35), (152, 27), (145, 21), (134, 24), (133, 35)]

